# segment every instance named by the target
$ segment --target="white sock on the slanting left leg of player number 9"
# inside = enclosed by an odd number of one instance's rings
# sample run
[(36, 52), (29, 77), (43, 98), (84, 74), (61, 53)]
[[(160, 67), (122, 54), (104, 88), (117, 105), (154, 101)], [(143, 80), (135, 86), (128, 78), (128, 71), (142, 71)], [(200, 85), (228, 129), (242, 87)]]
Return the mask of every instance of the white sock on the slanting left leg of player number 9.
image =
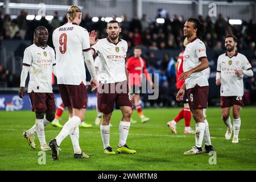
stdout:
[(71, 119), (69, 119), (65, 125), (63, 126), (63, 129), (60, 131), (59, 135), (57, 135), (56, 142), (57, 146), (60, 146), (60, 143), (69, 135), (71, 132), (74, 131), (75, 127), (79, 126), (81, 122), (81, 119), (77, 116), (73, 116)]

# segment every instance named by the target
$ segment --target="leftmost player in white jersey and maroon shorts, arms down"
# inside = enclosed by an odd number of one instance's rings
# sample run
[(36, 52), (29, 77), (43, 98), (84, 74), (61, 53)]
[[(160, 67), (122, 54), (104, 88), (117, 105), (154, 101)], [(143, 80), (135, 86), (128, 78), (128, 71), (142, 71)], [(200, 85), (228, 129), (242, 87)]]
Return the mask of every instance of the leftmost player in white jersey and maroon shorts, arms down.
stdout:
[(44, 127), (52, 122), (55, 114), (55, 98), (52, 93), (52, 72), (55, 73), (55, 52), (53, 48), (47, 46), (48, 30), (39, 26), (34, 32), (34, 44), (24, 51), (22, 73), (20, 75), (19, 97), (23, 98), (25, 93), (25, 83), (28, 72), (30, 81), (28, 82), (28, 94), (35, 112), (35, 125), (24, 131), (23, 137), (32, 148), (36, 148), (34, 134), (38, 133), (40, 148), (43, 151), (51, 150), (46, 143)]

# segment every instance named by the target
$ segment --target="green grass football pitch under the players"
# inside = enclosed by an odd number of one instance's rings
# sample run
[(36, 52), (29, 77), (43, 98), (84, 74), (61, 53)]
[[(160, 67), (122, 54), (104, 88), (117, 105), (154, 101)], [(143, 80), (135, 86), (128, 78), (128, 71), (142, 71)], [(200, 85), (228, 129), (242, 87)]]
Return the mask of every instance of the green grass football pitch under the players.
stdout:
[[(137, 112), (131, 123), (127, 139), (129, 147), (137, 151), (135, 155), (106, 155), (100, 135), (100, 127), (80, 129), (81, 149), (90, 156), (89, 159), (73, 159), (73, 147), (70, 137), (61, 143), (60, 159), (53, 162), (51, 151), (46, 151), (46, 163), (42, 163), (39, 140), (35, 137), (35, 150), (28, 146), (22, 137), (24, 129), (34, 125), (34, 113), (31, 111), (0, 112), (0, 170), (256, 170), (256, 107), (243, 107), (241, 110), (241, 130), (239, 143), (224, 138), (226, 127), (221, 121), (221, 112), (217, 107), (207, 110), (212, 144), (216, 158), (208, 154), (183, 155), (195, 145), (195, 135), (184, 134), (184, 120), (177, 124), (177, 134), (172, 134), (166, 123), (175, 117), (179, 108), (144, 109), (150, 117), (147, 123), (141, 123)], [(96, 111), (88, 110), (85, 120), (94, 124)], [(67, 121), (64, 112), (61, 123)], [(232, 118), (232, 115), (231, 115)], [(117, 149), (119, 140), (118, 125), (121, 112), (115, 110), (112, 115), (113, 127), (110, 129), (110, 144)], [(233, 120), (233, 119), (232, 119)], [(233, 123), (233, 122), (232, 122)], [(195, 121), (191, 121), (195, 129)], [(48, 125), (45, 129), (46, 140), (56, 137), (60, 129)], [(212, 157), (212, 158), (211, 158)], [(216, 159), (216, 160), (215, 160)], [(209, 164), (216, 162), (216, 164)]]

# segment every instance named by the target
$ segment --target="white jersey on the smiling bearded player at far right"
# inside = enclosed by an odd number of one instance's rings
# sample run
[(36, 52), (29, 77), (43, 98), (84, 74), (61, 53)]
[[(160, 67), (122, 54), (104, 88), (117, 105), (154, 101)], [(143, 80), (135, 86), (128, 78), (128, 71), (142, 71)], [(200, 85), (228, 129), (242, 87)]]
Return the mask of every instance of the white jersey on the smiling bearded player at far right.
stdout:
[(241, 53), (229, 57), (226, 53), (218, 56), (217, 72), (221, 73), (221, 96), (243, 96), (243, 75), (237, 76), (237, 70), (247, 70), (251, 64)]

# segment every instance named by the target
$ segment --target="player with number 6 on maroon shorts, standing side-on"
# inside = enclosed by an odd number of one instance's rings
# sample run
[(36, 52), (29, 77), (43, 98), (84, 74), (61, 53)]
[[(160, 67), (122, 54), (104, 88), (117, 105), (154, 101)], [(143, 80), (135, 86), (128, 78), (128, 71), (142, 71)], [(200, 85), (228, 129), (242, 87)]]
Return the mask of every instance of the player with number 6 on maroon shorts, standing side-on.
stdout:
[(184, 36), (188, 44), (183, 54), (183, 70), (179, 80), (185, 80), (177, 93), (177, 101), (183, 100), (185, 89), (188, 94), (188, 104), (196, 121), (196, 145), (185, 155), (201, 154), (203, 139), (205, 140), (204, 152), (213, 151), (210, 142), (210, 132), (207, 119), (204, 118), (203, 108), (207, 107), (208, 80), (202, 72), (209, 63), (204, 43), (200, 40), (204, 34), (204, 24), (199, 19), (189, 18), (184, 24)]

